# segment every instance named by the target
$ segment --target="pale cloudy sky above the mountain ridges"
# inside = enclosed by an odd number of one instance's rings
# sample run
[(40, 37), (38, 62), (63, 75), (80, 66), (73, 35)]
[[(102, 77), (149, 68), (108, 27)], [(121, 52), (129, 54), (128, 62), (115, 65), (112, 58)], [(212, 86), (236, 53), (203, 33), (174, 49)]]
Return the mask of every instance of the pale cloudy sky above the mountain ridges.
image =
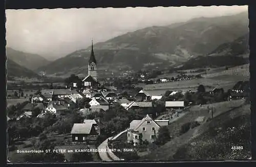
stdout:
[(245, 11), (247, 6), (8, 9), (6, 41), (7, 47), (55, 60), (87, 48), (92, 38), (104, 42), (148, 26)]

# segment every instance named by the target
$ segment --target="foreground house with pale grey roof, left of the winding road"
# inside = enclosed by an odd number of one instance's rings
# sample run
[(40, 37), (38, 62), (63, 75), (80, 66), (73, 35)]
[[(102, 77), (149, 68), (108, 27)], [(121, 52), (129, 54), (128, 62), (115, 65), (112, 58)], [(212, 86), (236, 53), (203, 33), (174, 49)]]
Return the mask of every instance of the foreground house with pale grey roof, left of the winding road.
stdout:
[(83, 123), (75, 123), (72, 127), (72, 142), (88, 143), (96, 141), (100, 136), (99, 120), (84, 120)]

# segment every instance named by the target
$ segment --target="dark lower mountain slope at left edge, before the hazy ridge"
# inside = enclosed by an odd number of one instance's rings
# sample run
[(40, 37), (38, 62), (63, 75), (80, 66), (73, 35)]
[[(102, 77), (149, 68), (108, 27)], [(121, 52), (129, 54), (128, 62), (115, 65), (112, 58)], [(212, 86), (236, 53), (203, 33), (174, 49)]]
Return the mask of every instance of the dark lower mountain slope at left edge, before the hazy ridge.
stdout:
[(39, 75), (34, 73), (33, 71), (22, 67), (15, 63), (14, 61), (8, 59), (7, 60), (7, 78), (10, 79), (12, 77), (28, 77), (28, 78), (40, 78)]

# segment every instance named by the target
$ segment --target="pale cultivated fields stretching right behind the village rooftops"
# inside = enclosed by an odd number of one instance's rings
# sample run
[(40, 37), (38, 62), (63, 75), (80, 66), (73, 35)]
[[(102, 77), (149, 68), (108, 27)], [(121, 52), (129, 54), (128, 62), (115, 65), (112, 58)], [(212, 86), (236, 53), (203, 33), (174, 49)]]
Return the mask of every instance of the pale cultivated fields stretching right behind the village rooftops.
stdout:
[[(232, 87), (239, 80), (249, 79), (249, 65), (243, 65), (233, 67), (227, 70), (223, 68), (210, 69), (206, 74), (203, 74), (203, 78), (174, 81), (160, 84), (151, 85), (136, 85), (147, 90), (148, 93), (152, 94), (164, 94), (167, 90), (170, 91), (196, 91), (199, 85), (204, 85), (206, 91), (214, 88), (223, 88), (225, 91), (232, 89)], [(168, 74), (166, 74), (168, 76)]]

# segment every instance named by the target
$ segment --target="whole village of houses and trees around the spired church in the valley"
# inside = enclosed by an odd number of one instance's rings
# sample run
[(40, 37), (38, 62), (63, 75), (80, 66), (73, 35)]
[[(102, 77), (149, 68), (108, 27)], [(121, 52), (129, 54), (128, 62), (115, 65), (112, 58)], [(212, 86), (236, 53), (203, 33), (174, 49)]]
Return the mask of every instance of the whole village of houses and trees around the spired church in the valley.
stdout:
[[(148, 84), (178, 82), (201, 77), (179, 75), (153, 81), (146, 75), (148, 73), (139, 72), (131, 77), (130, 81), (136, 76), (137, 80), (148, 81)], [(124, 74), (123, 77), (129, 80), (128, 74)], [(124, 92), (112, 84), (102, 86), (97, 77), (97, 61), (93, 45), (88, 62), (88, 75), (82, 80), (72, 75), (66, 81), (65, 88), (38, 90), (28, 98), (29, 101), (8, 108), (9, 152), (16, 150), (14, 144), (27, 140), (30, 143), (33, 141), (31, 147), (37, 145), (46, 149), (61, 148), (64, 145), (106, 149), (106, 152), (98, 153), (98, 160), (127, 160), (131, 156), (124, 155), (120, 150), (133, 150), (132, 148), (140, 148), (142, 145), (166, 143), (168, 140), (164, 141), (166, 137), (163, 136), (168, 133), (164, 133), (162, 127), (181, 118), (189, 106), (239, 100), (249, 96), (248, 81), (237, 82), (233, 89), (227, 92), (222, 88), (207, 92), (203, 85), (199, 85), (196, 92), (166, 90), (165, 94), (148, 93), (147, 90), (135, 87), (132, 82), (129, 89), (133, 93)], [(208, 108), (208, 112), (214, 112), (214, 108)], [(65, 139), (58, 142), (54, 140), (55, 136), (65, 136)], [(125, 142), (120, 146), (113, 145), (113, 141), (119, 138)], [(42, 146), (43, 141), (47, 140), (50, 140), (50, 143)], [(118, 152), (116, 152), (117, 148)], [(132, 152), (135, 153), (134, 150)], [(97, 159), (83, 157), (85, 161)], [(138, 155), (136, 154), (135, 157)], [(35, 159), (26, 158), (27, 161)], [(63, 159), (66, 161), (67, 158)]]

